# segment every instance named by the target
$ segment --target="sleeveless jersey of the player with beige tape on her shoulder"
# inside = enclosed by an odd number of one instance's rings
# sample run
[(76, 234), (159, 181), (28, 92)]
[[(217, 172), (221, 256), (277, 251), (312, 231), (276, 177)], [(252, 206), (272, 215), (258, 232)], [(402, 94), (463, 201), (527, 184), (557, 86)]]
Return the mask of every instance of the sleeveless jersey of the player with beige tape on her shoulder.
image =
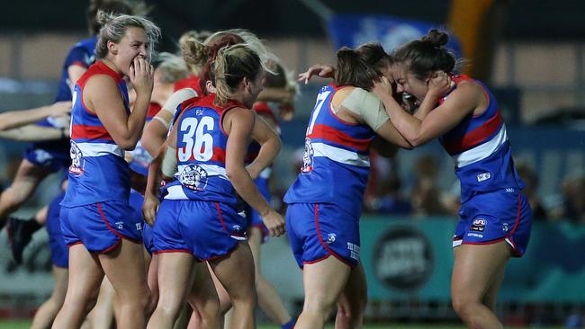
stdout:
[(284, 195), (286, 203), (333, 203), (359, 218), (370, 172), (374, 130), (341, 120), (331, 100), (339, 87), (320, 89), (305, 138), (301, 173)]

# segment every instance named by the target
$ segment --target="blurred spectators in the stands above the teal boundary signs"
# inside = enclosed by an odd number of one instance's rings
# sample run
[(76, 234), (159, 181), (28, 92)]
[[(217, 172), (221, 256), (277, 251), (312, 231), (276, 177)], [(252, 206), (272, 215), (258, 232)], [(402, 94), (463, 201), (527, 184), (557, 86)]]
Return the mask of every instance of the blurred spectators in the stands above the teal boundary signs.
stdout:
[[(457, 218), (460, 208), (459, 183), (450, 187), (439, 183), (439, 159), (432, 154), (421, 155), (410, 168), (411, 183), (399, 175), (401, 152), (386, 158), (374, 153), (371, 156), (372, 171), (365, 191), (364, 212), (369, 215), (432, 216)], [(302, 150), (294, 156), (292, 170), (302, 164)], [(526, 163), (518, 163), (518, 174), (526, 183), (524, 192), (532, 207), (536, 221), (570, 221), (585, 224), (585, 175), (569, 176), (561, 183), (561, 189), (553, 195), (540, 195), (538, 175)], [(275, 194), (279, 194), (275, 191)]]

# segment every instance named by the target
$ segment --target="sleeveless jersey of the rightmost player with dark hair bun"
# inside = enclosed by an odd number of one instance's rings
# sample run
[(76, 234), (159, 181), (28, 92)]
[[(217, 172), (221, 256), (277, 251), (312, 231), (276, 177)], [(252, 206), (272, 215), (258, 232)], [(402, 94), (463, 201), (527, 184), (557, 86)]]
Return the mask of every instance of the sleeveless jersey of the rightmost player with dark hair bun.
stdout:
[[(476, 192), (523, 188), (495, 97), (484, 84), (469, 76), (453, 76), (453, 80), (455, 88), (462, 81), (477, 82), (488, 99), (486, 111), (477, 116), (470, 114), (439, 138), (455, 161), (455, 173), (461, 181), (461, 201), (469, 200)], [(448, 96), (447, 93), (439, 103), (445, 102)]]

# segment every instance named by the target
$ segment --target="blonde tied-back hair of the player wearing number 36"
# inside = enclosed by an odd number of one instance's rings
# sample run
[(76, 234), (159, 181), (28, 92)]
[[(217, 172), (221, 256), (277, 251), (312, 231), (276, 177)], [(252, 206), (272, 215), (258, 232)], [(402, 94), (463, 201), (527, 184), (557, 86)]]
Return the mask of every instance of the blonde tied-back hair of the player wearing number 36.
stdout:
[(262, 63), (256, 51), (246, 44), (224, 47), (218, 51), (213, 63), (215, 76), (215, 102), (224, 105), (232, 99), (244, 77), (254, 80), (262, 72)]

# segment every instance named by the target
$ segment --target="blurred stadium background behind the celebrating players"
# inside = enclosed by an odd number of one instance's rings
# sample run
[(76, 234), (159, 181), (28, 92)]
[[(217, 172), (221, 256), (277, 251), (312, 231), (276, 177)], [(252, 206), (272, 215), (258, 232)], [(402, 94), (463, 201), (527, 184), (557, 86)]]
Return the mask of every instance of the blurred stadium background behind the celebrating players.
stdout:
[[(509, 264), (498, 314), (508, 325), (518, 326), (578, 324), (579, 317), (585, 316), (585, 257), (581, 253), (585, 250), (584, 2), (147, 3), (152, 5), (148, 16), (163, 30), (159, 51), (175, 51), (183, 31), (245, 28), (266, 40), (295, 72), (318, 62), (334, 63), (336, 36), (341, 33), (331, 23), (334, 20), (349, 24), (347, 17), (353, 17), (361, 22), (360, 40), (383, 38), (387, 31), (367, 30), (367, 23), (374, 19), (453, 31), (466, 59), (464, 71), (487, 82), (497, 93), (517, 162), (532, 170), (538, 182), (533, 190), (545, 210), (543, 218), (536, 218), (526, 257)], [(86, 35), (86, 5), (86, 1), (76, 0), (25, 0), (3, 5), (0, 111), (52, 102), (67, 50)], [(318, 79), (300, 85), (295, 119), (282, 124), (284, 151), (275, 166), (276, 196), (293, 180), (304, 125), (321, 84)], [(0, 140), (3, 189), (12, 181), (24, 147), (25, 143)], [(401, 151), (392, 161), (377, 161), (381, 183), (367, 199), (368, 213), (362, 222), (362, 259), (371, 297), (367, 324), (457, 324), (448, 299), (455, 216), (447, 206), (456, 198), (450, 161), (436, 143)], [(430, 189), (425, 185), (424, 193), (419, 186), (422, 176), (431, 183)], [(17, 215), (31, 214), (47, 203), (57, 191), (56, 182), (57, 177), (43, 182)], [(425, 195), (424, 200), (420, 200), (421, 195)], [(396, 200), (409, 203), (410, 211), (404, 214), (404, 209), (388, 205)], [(428, 206), (429, 202), (445, 207), (437, 209)], [(5, 245), (4, 232), (0, 244)], [(272, 239), (263, 253), (266, 277), (281, 291), (289, 308), (299, 311), (301, 271), (294, 265), (286, 239)], [(44, 232), (35, 236), (25, 254), (25, 265), (16, 267), (8, 249), (0, 248), (0, 327), (8, 327), (4, 319), (30, 317), (49, 295), (52, 281)]]

